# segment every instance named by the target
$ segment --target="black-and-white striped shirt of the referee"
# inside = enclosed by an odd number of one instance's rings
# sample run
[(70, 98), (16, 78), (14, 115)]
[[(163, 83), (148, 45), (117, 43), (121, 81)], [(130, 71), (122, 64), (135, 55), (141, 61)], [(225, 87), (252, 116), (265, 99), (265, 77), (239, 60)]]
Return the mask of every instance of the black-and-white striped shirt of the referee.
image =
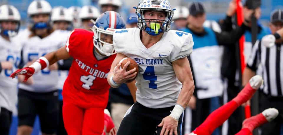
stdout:
[(283, 44), (270, 48), (257, 41), (247, 60), (247, 67), (264, 79), (261, 90), (272, 97), (283, 97)]

